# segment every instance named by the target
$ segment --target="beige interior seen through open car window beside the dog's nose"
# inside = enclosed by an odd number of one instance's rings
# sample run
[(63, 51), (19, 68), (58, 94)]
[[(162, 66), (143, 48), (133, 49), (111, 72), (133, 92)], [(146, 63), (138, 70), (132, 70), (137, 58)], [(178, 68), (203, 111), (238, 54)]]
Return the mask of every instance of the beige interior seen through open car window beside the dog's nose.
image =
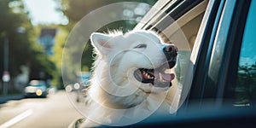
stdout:
[(170, 90), (172, 92), (171, 94), (175, 94), (175, 96), (170, 97), (175, 97), (172, 101), (172, 105), (175, 104), (176, 109), (179, 108), (179, 104), (183, 102), (183, 100), (180, 100), (180, 95), (183, 91), (184, 81), (188, 77), (189, 58), (194, 48), (195, 38), (201, 26), (207, 4), (208, 1), (202, 1), (196, 4), (194, 8), (189, 9), (189, 11), (180, 18), (175, 19), (172, 17), (175, 22), (170, 25), (164, 20), (160, 20), (162, 22), (159, 21), (159, 24), (154, 25), (159, 26), (166, 38), (169, 38), (178, 48), (177, 66), (175, 67), (177, 81), (173, 83), (172, 89)]

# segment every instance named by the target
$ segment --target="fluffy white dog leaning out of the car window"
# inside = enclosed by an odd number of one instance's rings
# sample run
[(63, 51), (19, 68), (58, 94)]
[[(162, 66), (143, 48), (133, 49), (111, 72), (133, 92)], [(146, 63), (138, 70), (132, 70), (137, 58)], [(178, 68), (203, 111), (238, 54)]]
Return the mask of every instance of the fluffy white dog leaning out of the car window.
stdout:
[(169, 69), (177, 58), (173, 44), (149, 31), (95, 32), (90, 39), (97, 56), (81, 126), (131, 125), (157, 109), (168, 113), (175, 78)]

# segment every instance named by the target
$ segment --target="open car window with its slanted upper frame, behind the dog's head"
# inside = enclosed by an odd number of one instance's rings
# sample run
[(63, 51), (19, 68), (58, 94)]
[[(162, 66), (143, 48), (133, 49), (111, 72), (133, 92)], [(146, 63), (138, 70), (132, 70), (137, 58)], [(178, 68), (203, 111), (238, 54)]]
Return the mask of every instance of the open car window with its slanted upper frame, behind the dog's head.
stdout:
[[(154, 4), (135, 29), (151, 30), (159, 33), (166, 44), (175, 44), (178, 48), (178, 60), (175, 67), (176, 81), (172, 85), (175, 97), (172, 105), (178, 108), (184, 79), (187, 76), (189, 58), (195, 47), (195, 38), (205, 15), (209, 1), (165, 0)], [(200, 44), (197, 44), (197, 48)]]

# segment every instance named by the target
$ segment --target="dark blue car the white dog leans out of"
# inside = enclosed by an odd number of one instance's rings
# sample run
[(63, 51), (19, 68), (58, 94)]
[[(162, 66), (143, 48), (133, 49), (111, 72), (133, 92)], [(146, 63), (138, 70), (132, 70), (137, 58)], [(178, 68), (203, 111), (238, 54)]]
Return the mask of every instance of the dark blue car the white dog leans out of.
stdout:
[(158, 1), (135, 29), (177, 45), (181, 96), (174, 116), (131, 126), (255, 127), (256, 0)]

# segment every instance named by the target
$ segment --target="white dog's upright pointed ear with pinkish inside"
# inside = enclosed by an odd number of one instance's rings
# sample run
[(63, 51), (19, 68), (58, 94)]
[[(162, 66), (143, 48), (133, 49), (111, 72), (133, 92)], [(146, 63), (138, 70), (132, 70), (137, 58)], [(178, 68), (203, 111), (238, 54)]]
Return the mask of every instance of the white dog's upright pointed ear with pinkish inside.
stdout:
[(107, 34), (93, 32), (90, 35), (91, 44), (103, 55), (108, 55), (108, 51), (111, 49), (109, 44), (109, 37)]

